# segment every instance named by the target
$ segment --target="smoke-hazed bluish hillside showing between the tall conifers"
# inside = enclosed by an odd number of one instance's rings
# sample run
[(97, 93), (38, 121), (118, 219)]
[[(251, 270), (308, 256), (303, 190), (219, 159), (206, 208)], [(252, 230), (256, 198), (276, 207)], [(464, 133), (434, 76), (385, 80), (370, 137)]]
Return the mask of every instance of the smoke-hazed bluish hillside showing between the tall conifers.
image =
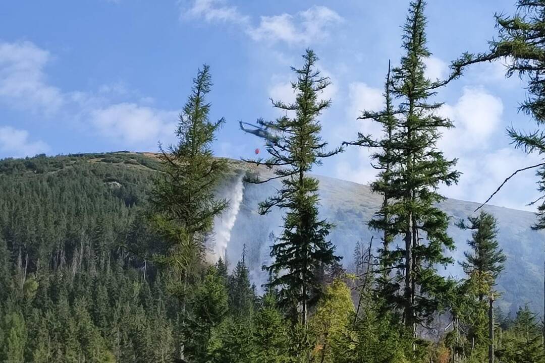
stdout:
[[(267, 173), (265, 170), (263, 172)], [(220, 256), (226, 256), (231, 270), (240, 260), (243, 246), (246, 245), (250, 278), (257, 290), (261, 291), (261, 285), (268, 279), (262, 267), (271, 262), (270, 246), (274, 243), (274, 236), (280, 236), (283, 223), (282, 212), (278, 208), (273, 208), (267, 216), (259, 215), (258, 203), (274, 195), (280, 182), (244, 183), (243, 174), (244, 171), (239, 170), (239, 174), (231, 178), (219, 193), (220, 197), (231, 200), (231, 207), (216, 220), (215, 245), (211, 246), (213, 255), (209, 256), (209, 260), (216, 261)], [(380, 235), (367, 227), (368, 220), (380, 206), (380, 196), (360, 184), (322, 176), (318, 179), (320, 217), (335, 224), (329, 238), (336, 246), (337, 255), (343, 257), (344, 267), (349, 268), (353, 265), (356, 242), (366, 245), (374, 236), (373, 248), (380, 244)], [(439, 269), (443, 275), (458, 279), (464, 277), (458, 261), (464, 259), (463, 252), (468, 248), (470, 232), (462, 231), (453, 224), (473, 214), (476, 206), (473, 202), (454, 199), (441, 203), (441, 208), (451, 217), (449, 234), (457, 246), (455, 251), (446, 251), (455, 262), (446, 269)], [(498, 239), (507, 255), (505, 270), (497, 286), (503, 293), (498, 305), (512, 311), (519, 305), (529, 303), (532, 310), (542, 311), (543, 233), (530, 229), (535, 222), (535, 214), (494, 206), (487, 206), (485, 210), (498, 219)]]

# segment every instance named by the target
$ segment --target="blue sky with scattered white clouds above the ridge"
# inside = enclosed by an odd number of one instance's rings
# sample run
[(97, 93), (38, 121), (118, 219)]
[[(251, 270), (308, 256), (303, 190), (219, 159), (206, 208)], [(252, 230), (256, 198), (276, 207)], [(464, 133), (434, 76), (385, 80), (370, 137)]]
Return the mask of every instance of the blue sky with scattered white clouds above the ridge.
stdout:
[[(514, 0), (429, 1), (428, 75), (446, 75), (464, 51), (487, 49), (493, 14), (514, 11)], [(290, 65), (312, 47), (332, 85), (322, 117), (331, 146), (358, 131), (362, 109), (379, 109), (388, 59), (401, 56), (408, 2), (234, 0), (9, 1), (0, 9), (0, 157), (115, 150), (156, 151), (171, 143), (179, 109), (199, 66), (211, 66), (211, 117), (227, 120), (217, 155), (253, 155), (263, 142), (238, 120), (274, 118), (269, 97), (289, 101)], [(442, 89), (441, 113), (456, 130), (440, 146), (459, 158), (452, 198), (483, 201), (517, 168), (538, 158), (513, 150), (505, 128), (529, 130), (517, 113), (524, 83), (505, 79), (501, 62), (469, 69)], [(360, 183), (374, 178), (368, 150), (349, 149), (315, 173)], [(535, 199), (530, 171), (507, 185), (493, 204), (525, 208)]]

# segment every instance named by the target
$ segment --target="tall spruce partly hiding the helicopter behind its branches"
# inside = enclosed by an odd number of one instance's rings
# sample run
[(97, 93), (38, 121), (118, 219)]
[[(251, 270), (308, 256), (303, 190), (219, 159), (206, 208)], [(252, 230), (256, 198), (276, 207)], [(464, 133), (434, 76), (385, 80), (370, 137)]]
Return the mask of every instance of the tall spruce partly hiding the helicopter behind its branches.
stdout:
[(320, 137), (322, 126), (318, 117), (330, 106), (331, 100), (319, 100), (318, 95), (330, 82), (315, 68), (318, 57), (312, 50), (306, 50), (303, 59), (301, 69), (292, 68), (297, 75), (297, 81), (292, 84), (295, 102), (273, 101), (273, 106), (286, 115), (276, 121), (262, 121), (276, 130), (279, 137), (267, 144), (270, 158), (254, 162), (274, 168), (275, 176), (250, 181), (264, 183), (281, 179), (278, 193), (259, 205), (262, 214), (275, 206), (287, 211), (283, 233), (271, 248), (274, 262), (267, 269), (274, 275), (270, 285), (280, 287), (282, 306), (289, 310), (290, 316), (294, 319), (299, 316), (299, 321), (306, 325), (308, 307), (316, 302), (320, 292), (317, 273), (340, 260), (326, 239), (332, 225), (318, 217), (318, 180), (308, 173), (321, 159), (342, 149), (325, 151), (327, 143)]

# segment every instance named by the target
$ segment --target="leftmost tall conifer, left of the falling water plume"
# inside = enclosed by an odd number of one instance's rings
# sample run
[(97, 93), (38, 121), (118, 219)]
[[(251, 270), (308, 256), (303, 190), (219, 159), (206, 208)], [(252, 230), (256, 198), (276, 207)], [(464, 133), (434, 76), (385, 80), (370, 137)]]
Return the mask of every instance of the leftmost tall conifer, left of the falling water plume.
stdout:
[(166, 238), (166, 255), (159, 262), (187, 272), (200, 261), (205, 238), (214, 217), (226, 207), (214, 192), (226, 170), (223, 159), (213, 157), (211, 144), (224, 120), (211, 122), (206, 96), (212, 86), (210, 68), (204, 65), (193, 79), (191, 94), (179, 116), (175, 134), (178, 143), (161, 147), (161, 171), (155, 179), (150, 201), (152, 222)]

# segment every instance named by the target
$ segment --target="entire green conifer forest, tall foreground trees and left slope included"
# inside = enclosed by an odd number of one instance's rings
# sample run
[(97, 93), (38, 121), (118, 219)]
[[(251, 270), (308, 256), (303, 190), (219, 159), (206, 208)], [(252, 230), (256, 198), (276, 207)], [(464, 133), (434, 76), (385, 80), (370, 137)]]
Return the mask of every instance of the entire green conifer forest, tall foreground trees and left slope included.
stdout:
[[(0, 160), (0, 360), (545, 362), (545, 316), (540, 321), (528, 304), (500, 307), (502, 294), (537, 290), (513, 274), (524, 275), (530, 265), (511, 246), (502, 248), (501, 212), (483, 204), (453, 221), (445, 208), (452, 201), (439, 189), (456, 184), (461, 173), (458, 160), (440, 148), (456, 120), (440, 113), (438, 96), (467, 67), (508, 59), (506, 76), (517, 73), (528, 83), (520, 110), (537, 125), (531, 132), (511, 127), (508, 136), (541, 157), (545, 2), (519, 0), (513, 16), (496, 15), (498, 39), (487, 52), (462, 54), (445, 79), (426, 73), (432, 56), (426, 5), (409, 3), (401, 59), (386, 72), (384, 108), (362, 110), (360, 119), (379, 124), (378, 135), (358, 133), (329, 148), (321, 118), (333, 101), (320, 97), (330, 79), (307, 48), (302, 65), (292, 67), (295, 100), (273, 100), (281, 115), (258, 120), (262, 132), (254, 134), (265, 139), (265, 158), (214, 156), (225, 119), (211, 120), (214, 84), (204, 64), (174, 143), (160, 144), (159, 153)], [(353, 256), (341, 256), (332, 241), (335, 220), (323, 208), (322, 179), (311, 172), (354, 146), (373, 150), (379, 173), (370, 188), (379, 203), (370, 218), (360, 210), (348, 229), (376, 233), (354, 243)], [(530, 169), (545, 192), (542, 162), (513, 170), (486, 202)], [(222, 188), (232, 182), (239, 192), (225, 198)], [(234, 259), (227, 243), (242, 239), (231, 232), (236, 213), (247, 207), (244, 188), (262, 184), (268, 189), (260, 189), (250, 213), (271, 218), (276, 210), (281, 218), (264, 244), (267, 282), (257, 286), (250, 261), (255, 245), (263, 246), (258, 225), (245, 230), (250, 243)], [(531, 228), (541, 230), (543, 196), (534, 203)], [(234, 218), (222, 221), (229, 213)], [(220, 224), (227, 230), (215, 235)], [(453, 225), (466, 232), (463, 254), (455, 255), (461, 242)], [(440, 273), (455, 263), (461, 274)], [(502, 285), (513, 280), (511, 291)]]

